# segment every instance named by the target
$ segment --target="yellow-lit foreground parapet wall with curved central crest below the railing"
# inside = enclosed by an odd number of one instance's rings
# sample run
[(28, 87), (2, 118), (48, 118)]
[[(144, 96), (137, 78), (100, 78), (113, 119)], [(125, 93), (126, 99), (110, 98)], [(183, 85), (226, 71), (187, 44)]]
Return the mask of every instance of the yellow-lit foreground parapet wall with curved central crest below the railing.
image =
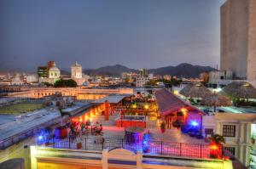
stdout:
[[(231, 169), (231, 161), (185, 159), (182, 157), (146, 157), (127, 149), (103, 149), (102, 151), (84, 151), (79, 149), (45, 149), (31, 147), (32, 169), (75, 168), (88, 169)], [(73, 166), (71, 166), (73, 164)]]

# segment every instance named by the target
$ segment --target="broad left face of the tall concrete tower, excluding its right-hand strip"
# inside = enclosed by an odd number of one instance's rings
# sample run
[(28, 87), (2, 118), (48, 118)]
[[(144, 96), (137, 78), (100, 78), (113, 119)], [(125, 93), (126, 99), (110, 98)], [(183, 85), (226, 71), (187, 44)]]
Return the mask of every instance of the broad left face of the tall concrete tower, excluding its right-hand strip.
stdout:
[(248, 0), (228, 0), (221, 7), (220, 69), (247, 78)]

